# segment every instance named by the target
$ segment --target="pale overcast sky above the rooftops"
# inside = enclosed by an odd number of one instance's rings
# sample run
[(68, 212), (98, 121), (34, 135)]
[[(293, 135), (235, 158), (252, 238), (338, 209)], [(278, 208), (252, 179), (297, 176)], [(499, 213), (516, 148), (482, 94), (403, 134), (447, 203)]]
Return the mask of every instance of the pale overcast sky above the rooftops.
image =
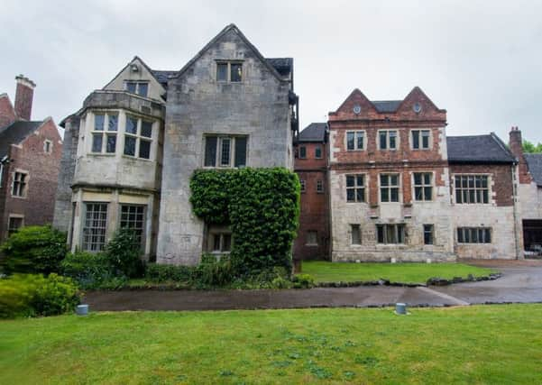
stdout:
[[(262, 2), (263, 3), (263, 2)], [(138, 55), (180, 69), (235, 23), (266, 57), (293, 57), (302, 127), (355, 88), (372, 100), (421, 87), (449, 135), (511, 125), (542, 142), (542, 1), (0, 0), (0, 93), (37, 83), (32, 118), (57, 123)]]

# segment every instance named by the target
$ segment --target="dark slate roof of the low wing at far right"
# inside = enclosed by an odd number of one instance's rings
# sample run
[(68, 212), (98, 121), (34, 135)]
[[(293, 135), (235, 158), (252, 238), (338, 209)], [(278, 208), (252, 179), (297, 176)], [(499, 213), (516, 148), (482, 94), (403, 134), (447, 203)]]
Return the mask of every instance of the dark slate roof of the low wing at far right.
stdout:
[(448, 161), (450, 163), (513, 163), (514, 155), (499, 137), (489, 135), (448, 136)]

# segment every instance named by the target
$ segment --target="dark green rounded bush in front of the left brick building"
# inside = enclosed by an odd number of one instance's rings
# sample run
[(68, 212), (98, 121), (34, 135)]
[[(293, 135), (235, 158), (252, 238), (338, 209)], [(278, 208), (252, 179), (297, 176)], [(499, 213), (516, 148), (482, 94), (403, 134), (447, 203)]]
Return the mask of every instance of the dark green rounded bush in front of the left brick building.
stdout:
[(23, 227), (0, 246), (6, 274), (58, 272), (67, 251), (66, 234), (50, 225)]

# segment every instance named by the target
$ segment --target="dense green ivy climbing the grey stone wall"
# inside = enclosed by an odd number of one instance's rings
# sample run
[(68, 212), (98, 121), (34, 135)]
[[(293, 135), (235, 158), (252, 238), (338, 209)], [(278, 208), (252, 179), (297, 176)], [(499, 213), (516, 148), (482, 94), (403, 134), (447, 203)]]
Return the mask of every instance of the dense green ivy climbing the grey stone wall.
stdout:
[(230, 225), (231, 263), (240, 275), (291, 268), (299, 225), (298, 176), (284, 168), (197, 170), (190, 180), (194, 214)]

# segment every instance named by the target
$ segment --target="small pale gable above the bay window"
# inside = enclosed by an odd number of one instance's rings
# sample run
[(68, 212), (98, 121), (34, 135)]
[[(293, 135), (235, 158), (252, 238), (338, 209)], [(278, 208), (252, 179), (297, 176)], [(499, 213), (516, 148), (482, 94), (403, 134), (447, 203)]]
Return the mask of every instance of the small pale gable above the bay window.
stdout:
[[(133, 70), (136, 69), (136, 70)], [(161, 71), (163, 72), (163, 71)], [(130, 61), (124, 69), (107, 83), (106, 87), (103, 89), (110, 91), (124, 91), (126, 86), (125, 83), (129, 80), (132, 81), (144, 81), (149, 83), (148, 97), (155, 100), (162, 100), (165, 94), (166, 89), (161, 85), (157, 80), (150, 69), (140, 58), (137, 56)]]

